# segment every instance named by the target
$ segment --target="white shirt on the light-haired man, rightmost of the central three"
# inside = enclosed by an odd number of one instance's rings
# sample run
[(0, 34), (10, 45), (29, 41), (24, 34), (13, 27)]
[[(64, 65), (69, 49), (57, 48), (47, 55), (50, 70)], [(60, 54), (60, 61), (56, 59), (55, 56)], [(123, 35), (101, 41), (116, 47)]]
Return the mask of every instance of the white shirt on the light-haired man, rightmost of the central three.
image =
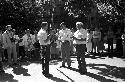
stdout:
[[(80, 30), (77, 30), (75, 33), (74, 33), (74, 37), (76, 37), (77, 39), (85, 39), (87, 38), (87, 30), (81, 28)], [(73, 41), (74, 44), (86, 44), (86, 41), (78, 41), (78, 40), (74, 40)]]

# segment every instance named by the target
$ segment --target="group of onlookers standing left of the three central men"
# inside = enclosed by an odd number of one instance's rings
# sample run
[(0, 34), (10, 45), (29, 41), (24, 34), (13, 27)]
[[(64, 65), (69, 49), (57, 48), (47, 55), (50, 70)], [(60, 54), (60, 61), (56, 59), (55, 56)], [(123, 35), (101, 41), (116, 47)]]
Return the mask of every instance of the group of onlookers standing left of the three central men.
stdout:
[[(32, 51), (36, 52), (35, 44), (38, 42), (37, 34), (30, 33), (26, 30), (24, 35), (17, 35), (16, 30), (12, 29), (11, 25), (6, 26), (6, 30), (2, 33), (0, 31), (0, 61), (8, 61), (10, 66), (18, 65), (18, 58), (21, 60), (29, 55)], [(34, 57), (38, 57), (37, 55)], [(29, 59), (28, 58), (28, 59)], [(2, 63), (0, 63), (2, 66)]]

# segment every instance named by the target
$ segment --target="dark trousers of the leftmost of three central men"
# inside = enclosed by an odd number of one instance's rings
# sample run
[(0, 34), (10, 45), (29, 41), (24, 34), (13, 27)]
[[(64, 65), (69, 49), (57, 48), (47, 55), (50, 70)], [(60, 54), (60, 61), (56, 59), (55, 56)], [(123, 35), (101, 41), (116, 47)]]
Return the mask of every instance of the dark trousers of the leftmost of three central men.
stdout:
[(45, 74), (49, 74), (50, 45), (42, 46), (42, 69)]

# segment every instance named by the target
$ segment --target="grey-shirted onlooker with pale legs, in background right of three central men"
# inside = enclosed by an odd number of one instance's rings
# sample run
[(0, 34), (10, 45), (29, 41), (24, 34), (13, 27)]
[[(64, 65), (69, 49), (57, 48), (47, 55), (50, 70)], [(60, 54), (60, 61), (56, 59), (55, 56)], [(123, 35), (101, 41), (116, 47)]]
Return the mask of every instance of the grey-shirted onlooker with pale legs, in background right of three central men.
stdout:
[(98, 28), (95, 28), (95, 31), (93, 31), (93, 48), (94, 48), (95, 53), (96, 52), (99, 53), (99, 41), (100, 40), (101, 40), (101, 32), (99, 31)]

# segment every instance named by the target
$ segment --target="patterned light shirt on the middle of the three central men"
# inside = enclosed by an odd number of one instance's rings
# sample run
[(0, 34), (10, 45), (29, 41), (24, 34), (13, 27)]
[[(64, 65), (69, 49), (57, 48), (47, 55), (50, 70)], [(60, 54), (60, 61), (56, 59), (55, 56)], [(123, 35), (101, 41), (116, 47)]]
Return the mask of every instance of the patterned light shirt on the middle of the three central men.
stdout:
[(61, 40), (62, 42), (64, 42), (65, 40), (70, 41), (71, 40), (71, 36), (72, 36), (72, 32), (70, 29), (65, 29), (65, 30), (60, 30), (59, 31), (59, 40)]

